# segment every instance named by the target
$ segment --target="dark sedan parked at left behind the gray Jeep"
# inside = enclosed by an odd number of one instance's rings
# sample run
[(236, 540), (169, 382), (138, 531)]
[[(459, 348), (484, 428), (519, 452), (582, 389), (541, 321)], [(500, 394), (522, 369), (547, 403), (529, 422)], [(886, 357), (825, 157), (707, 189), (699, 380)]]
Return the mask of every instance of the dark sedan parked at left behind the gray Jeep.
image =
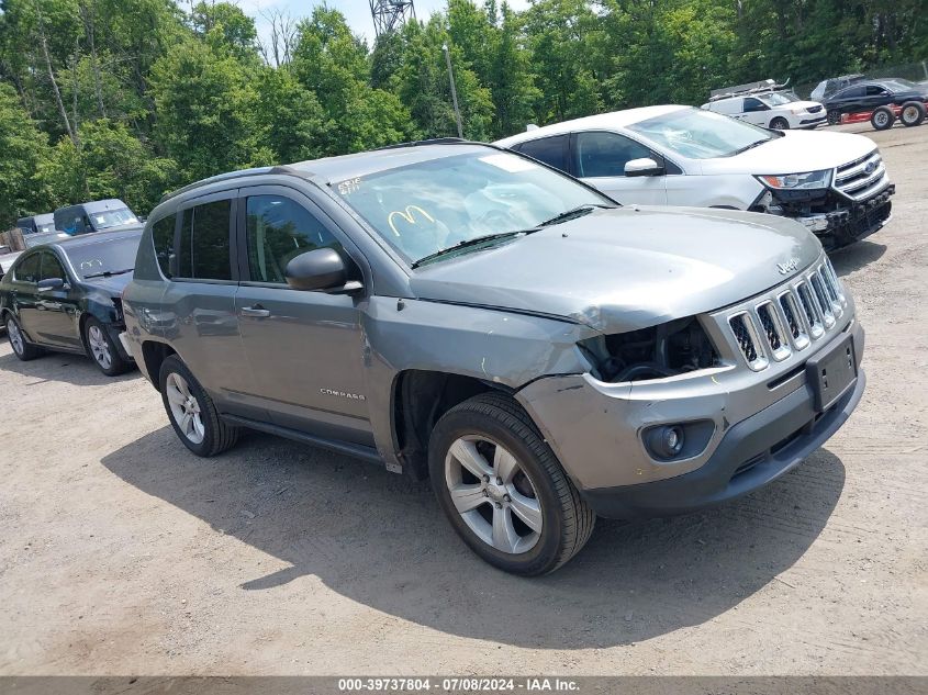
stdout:
[(119, 340), (122, 291), (141, 229), (101, 232), (29, 249), (0, 280), (0, 322), (16, 357), (45, 350), (90, 356), (114, 377), (135, 366)]

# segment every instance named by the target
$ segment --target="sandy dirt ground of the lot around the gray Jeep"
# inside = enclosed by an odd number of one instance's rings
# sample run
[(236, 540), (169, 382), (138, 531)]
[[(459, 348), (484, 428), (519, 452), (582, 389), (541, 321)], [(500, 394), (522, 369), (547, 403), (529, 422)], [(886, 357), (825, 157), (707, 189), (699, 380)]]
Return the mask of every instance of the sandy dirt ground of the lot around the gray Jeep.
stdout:
[(483, 564), (427, 485), (262, 435), (189, 455), (137, 372), (0, 347), (0, 674), (928, 674), (928, 126), (835, 256), (869, 385), (825, 448), (692, 516)]

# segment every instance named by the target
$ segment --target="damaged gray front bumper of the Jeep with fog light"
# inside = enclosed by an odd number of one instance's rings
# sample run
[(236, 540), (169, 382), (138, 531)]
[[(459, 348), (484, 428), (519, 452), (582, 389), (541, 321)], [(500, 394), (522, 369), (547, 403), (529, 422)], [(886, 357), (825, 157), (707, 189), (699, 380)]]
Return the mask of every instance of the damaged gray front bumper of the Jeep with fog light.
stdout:
[[(817, 410), (807, 366), (848, 340), (856, 377)], [(782, 362), (776, 373), (729, 367), (623, 384), (590, 374), (550, 377), (516, 397), (596, 514), (663, 516), (747, 494), (821, 446), (860, 401), (862, 352), (863, 330), (851, 321), (817, 349)], [(660, 460), (645, 433), (670, 424), (693, 425), (687, 431), (698, 440), (684, 456)]]

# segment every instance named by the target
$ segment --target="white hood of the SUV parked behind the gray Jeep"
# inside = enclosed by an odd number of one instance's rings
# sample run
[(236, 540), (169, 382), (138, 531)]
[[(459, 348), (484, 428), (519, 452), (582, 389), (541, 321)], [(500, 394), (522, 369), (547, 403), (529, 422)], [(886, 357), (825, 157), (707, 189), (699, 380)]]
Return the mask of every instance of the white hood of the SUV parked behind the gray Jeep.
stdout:
[(782, 137), (775, 137), (740, 155), (701, 160), (703, 173), (803, 173), (834, 169), (860, 159), (876, 148), (872, 139), (851, 133), (782, 133)]

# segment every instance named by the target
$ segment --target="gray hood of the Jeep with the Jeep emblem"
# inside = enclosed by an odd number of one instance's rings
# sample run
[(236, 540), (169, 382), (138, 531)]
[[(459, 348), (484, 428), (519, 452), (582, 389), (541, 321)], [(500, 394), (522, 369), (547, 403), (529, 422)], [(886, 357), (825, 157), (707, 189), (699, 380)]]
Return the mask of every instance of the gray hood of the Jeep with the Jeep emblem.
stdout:
[(620, 333), (759, 294), (820, 253), (818, 240), (785, 217), (622, 208), (429, 264), (410, 284), (420, 299), (556, 315)]

